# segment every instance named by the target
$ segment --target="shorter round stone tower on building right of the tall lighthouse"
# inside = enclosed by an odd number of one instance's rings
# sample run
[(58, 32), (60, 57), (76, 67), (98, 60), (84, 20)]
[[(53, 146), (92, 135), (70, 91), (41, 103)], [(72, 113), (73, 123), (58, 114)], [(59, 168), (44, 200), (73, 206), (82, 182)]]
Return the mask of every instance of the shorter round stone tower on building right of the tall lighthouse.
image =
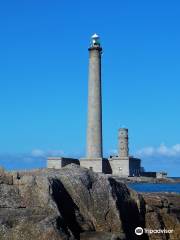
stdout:
[(119, 129), (119, 157), (126, 158), (129, 157), (129, 146), (128, 146), (128, 129), (120, 128)]

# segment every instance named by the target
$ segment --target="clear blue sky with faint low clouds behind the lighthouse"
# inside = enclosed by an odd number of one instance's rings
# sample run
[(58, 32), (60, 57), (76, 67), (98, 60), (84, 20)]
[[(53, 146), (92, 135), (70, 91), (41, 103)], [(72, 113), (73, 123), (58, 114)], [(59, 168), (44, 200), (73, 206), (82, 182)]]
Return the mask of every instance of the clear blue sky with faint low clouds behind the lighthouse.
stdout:
[(117, 148), (124, 125), (147, 170), (178, 176), (179, 10), (178, 0), (1, 1), (0, 165), (85, 155), (87, 48), (97, 32), (104, 154)]

